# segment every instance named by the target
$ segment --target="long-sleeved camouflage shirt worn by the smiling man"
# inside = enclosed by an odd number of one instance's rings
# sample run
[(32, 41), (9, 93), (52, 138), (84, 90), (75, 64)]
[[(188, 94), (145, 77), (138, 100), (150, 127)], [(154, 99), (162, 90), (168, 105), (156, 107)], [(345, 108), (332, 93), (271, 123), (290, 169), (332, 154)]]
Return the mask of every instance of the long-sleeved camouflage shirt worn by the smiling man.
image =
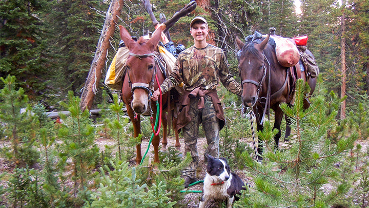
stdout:
[(166, 93), (183, 82), (187, 91), (197, 87), (212, 90), (216, 89), (218, 78), (228, 90), (242, 95), (241, 86), (229, 73), (226, 55), (222, 49), (210, 44), (201, 49), (191, 46), (178, 55), (173, 72), (160, 87), (162, 93)]

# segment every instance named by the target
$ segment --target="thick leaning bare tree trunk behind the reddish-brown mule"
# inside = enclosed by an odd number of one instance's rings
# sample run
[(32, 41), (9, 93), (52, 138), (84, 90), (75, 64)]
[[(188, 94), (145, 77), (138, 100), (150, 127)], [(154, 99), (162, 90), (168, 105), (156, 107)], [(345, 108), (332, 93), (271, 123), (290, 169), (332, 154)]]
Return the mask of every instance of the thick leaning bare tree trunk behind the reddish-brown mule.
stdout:
[(123, 7), (124, 0), (112, 0), (108, 13), (105, 18), (104, 28), (101, 31), (100, 39), (97, 44), (95, 58), (92, 61), (89, 75), (86, 80), (85, 88), (81, 95), (81, 109), (91, 109), (97, 87), (101, 79), (101, 71), (105, 66), (105, 61), (110, 47), (109, 39), (115, 31), (115, 24), (118, 22), (120, 10)]

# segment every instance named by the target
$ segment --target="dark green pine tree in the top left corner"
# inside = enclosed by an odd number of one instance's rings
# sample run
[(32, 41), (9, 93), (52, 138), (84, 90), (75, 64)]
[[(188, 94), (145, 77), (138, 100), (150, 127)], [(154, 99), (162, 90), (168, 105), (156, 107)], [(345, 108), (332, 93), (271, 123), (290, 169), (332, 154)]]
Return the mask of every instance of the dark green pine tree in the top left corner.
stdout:
[(48, 5), (45, 0), (0, 2), (0, 77), (14, 75), (17, 87), (23, 87), (31, 99), (46, 97), (49, 36), (39, 17)]

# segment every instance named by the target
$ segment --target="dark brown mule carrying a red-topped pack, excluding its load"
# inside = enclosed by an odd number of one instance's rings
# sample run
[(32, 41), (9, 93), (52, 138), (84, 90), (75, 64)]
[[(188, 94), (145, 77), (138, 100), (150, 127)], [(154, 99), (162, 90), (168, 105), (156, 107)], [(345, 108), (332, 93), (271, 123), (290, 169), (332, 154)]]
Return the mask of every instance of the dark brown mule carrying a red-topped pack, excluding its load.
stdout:
[[(270, 34), (263, 40), (252, 41), (244, 44), (238, 37), (236, 43), (242, 50), (239, 58), (239, 71), (242, 80), (242, 102), (246, 107), (253, 107), (256, 116), (257, 130), (263, 129), (263, 120), (269, 109), (274, 110), (274, 126), (278, 129), (278, 134), (274, 137), (276, 148), (278, 148), (279, 138), (281, 136), (280, 125), (283, 118), (283, 111), (279, 107), (280, 103), (291, 104), (293, 91), (289, 87), (288, 79), (289, 68), (283, 67), (278, 63), (275, 49), (268, 44)], [(261, 42), (261, 43), (260, 43)], [(301, 73), (305, 80), (305, 74)], [(309, 79), (311, 94), (316, 85), (316, 78)], [(268, 90), (269, 89), (269, 90)], [(269, 98), (269, 102), (267, 102)], [(270, 103), (265, 106), (266, 103)], [(305, 103), (309, 107), (309, 103)], [(286, 118), (287, 123), (289, 119)], [(290, 127), (286, 127), (285, 138), (290, 136)], [(262, 146), (258, 146), (258, 153), (262, 155)], [(258, 160), (262, 157), (258, 156)]]

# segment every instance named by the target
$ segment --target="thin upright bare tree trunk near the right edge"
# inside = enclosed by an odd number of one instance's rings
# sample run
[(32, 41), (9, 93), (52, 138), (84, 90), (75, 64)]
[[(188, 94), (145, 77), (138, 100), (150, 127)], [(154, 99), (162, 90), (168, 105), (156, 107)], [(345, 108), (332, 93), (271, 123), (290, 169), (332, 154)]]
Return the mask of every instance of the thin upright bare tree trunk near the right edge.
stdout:
[[(345, 42), (345, 13), (342, 13), (341, 16), (341, 99), (346, 94), (346, 42)], [(341, 115), (340, 119), (346, 118), (346, 101), (342, 101), (341, 103)]]

